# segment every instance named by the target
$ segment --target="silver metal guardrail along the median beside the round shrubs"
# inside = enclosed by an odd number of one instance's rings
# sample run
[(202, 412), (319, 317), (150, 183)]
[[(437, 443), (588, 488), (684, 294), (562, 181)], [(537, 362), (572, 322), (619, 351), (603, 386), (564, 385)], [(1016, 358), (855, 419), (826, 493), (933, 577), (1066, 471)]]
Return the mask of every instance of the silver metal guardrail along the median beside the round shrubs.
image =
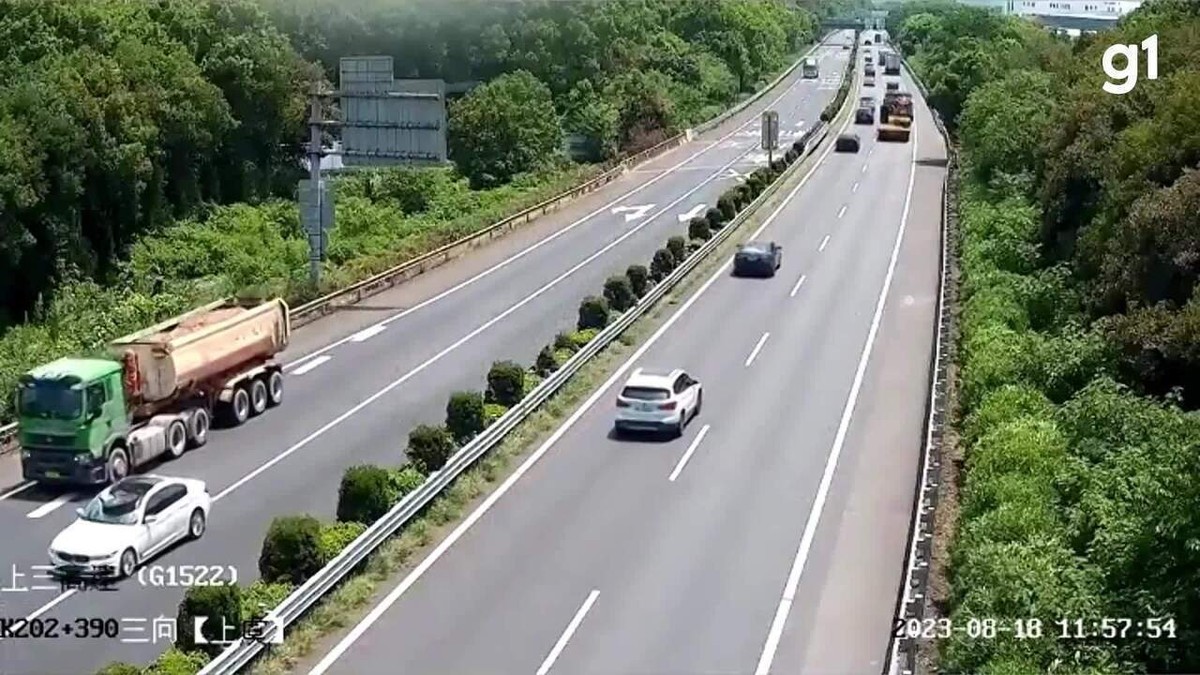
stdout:
[[(850, 104), (851, 100), (852, 97), (846, 97), (846, 101), (842, 103), (844, 109)], [(763, 190), (742, 213), (719, 232), (714, 233), (713, 238), (706, 241), (703, 246), (688, 256), (688, 259), (683, 264), (676, 268), (666, 279), (656, 283), (636, 305), (598, 333), (590, 342), (576, 352), (575, 356), (568, 359), (550, 377), (538, 384), (533, 392), (529, 392), (521, 402), (505, 412), (474, 440), (460, 448), (440, 471), (430, 476), (421, 486), (406, 495), (391, 510), (342, 549), (342, 552), (337, 557), (293, 591), (278, 607), (268, 613), (264, 617), (268, 629), (259, 640), (236, 640), (215, 659), (209, 662), (198, 675), (233, 675), (253, 662), (260, 652), (268, 649), (268, 645), (272, 640), (277, 639), (277, 631), (286, 633), (289, 626), (299, 621), (326, 593), (337, 587), (356, 567), (374, 554), (384, 542), (400, 532), (409, 520), (430, 506), (455, 479), (503, 442), (510, 431), (558, 392), (571, 376), (578, 372), (593, 357), (604, 351), (605, 347), (617, 340), (637, 318), (671, 292), (691, 270), (732, 237), (742, 223), (779, 191), (803, 161), (812, 156), (816, 149), (828, 138), (830, 129), (826, 123), (817, 123), (816, 126), (805, 132), (803, 136), (804, 154), (797, 157), (787, 171)]]

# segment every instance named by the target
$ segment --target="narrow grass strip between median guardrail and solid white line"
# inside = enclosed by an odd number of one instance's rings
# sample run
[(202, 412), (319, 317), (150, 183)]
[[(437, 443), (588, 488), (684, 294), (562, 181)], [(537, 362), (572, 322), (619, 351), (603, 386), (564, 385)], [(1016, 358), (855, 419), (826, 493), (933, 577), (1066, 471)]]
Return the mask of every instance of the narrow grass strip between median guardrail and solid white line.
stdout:
[[(847, 96), (842, 112), (834, 125), (850, 114)], [(836, 127), (834, 127), (836, 129)], [(832, 136), (832, 135), (830, 135)], [(827, 138), (826, 143), (832, 143)], [(768, 196), (740, 226), (739, 231), (757, 227), (764, 216), (779, 205), (787, 191), (794, 186), (798, 177), (803, 177), (820, 156), (820, 148), (808, 157), (793, 165), (785, 174), (776, 190)], [(283, 645), (276, 646), (260, 658), (251, 669), (256, 675), (281, 675), (290, 673), (323, 641), (334, 638), (335, 633), (356, 623), (365, 610), (373, 607), (382, 596), (390, 591), (394, 577), (407, 573), (415, 562), (425, 557), (431, 548), (449, 534), (452, 526), (473, 510), (482, 498), (539, 447), (596, 388), (604, 383), (638, 345), (644, 342), (674, 311), (684, 298), (692, 294), (719, 269), (733, 253), (740, 239), (727, 238), (714, 249), (694, 270), (670, 293), (655, 303), (650, 310), (635, 321), (616, 341), (588, 362), (566, 384), (547, 400), (536, 412), (526, 418), (511, 434), (478, 465), (458, 477), (426, 510), (425, 514), (410, 521), (400, 533), (383, 544), (367, 561), (364, 572), (352, 577), (337, 590), (330, 593), (295, 627), (288, 631)], [(341, 635), (336, 635), (341, 639)], [(331, 640), (330, 640), (331, 641)], [(331, 646), (331, 645), (330, 645)], [(306, 664), (310, 665), (311, 664)]]

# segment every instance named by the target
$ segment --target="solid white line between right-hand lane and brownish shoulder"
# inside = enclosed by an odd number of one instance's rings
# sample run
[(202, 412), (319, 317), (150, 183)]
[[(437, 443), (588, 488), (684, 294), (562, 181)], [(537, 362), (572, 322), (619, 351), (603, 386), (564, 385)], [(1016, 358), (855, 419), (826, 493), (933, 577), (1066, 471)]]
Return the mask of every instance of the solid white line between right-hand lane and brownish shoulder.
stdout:
[(900, 216), (900, 229), (896, 232), (895, 244), (892, 246), (892, 259), (888, 262), (888, 271), (883, 277), (883, 287), (880, 289), (880, 298), (875, 304), (875, 315), (871, 317), (871, 329), (866, 334), (866, 344), (858, 359), (858, 369), (854, 371), (854, 382), (850, 388), (850, 396), (846, 399), (846, 407), (841, 413), (841, 423), (838, 425), (838, 434), (834, 436), (833, 447), (826, 460), (824, 473), (817, 486), (816, 498), (809, 510), (808, 521), (804, 524), (804, 534), (800, 537), (800, 545), (792, 561), (792, 569), (787, 574), (787, 583), (784, 586), (784, 595), (775, 610), (775, 617), (770, 622), (767, 632), (767, 643), (758, 658), (758, 667), (755, 675), (768, 675), (770, 665), (779, 650), (779, 643), (784, 637), (784, 627), (787, 623), (787, 615), (791, 613), (792, 602), (796, 599), (796, 590), (800, 584), (800, 575), (804, 573), (804, 565), (808, 562), (812, 540), (816, 538), (817, 526), (821, 522), (821, 513), (824, 510), (826, 500), (829, 497), (829, 486), (833, 484), (834, 473), (838, 470), (838, 460), (841, 458), (842, 447), (846, 443), (846, 435), (850, 431), (850, 422), (854, 414), (854, 406), (858, 404), (858, 394), (866, 376), (866, 365), (871, 359), (871, 350), (875, 347), (875, 338), (880, 330), (883, 318), (883, 307), (887, 304), (888, 292), (892, 289), (892, 279), (895, 275), (896, 261), (900, 259), (900, 246), (904, 243), (904, 233), (908, 226), (908, 209), (912, 207), (912, 186), (917, 178), (917, 137), (912, 138), (912, 159), (908, 163), (908, 190), (905, 193), (904, 211)]

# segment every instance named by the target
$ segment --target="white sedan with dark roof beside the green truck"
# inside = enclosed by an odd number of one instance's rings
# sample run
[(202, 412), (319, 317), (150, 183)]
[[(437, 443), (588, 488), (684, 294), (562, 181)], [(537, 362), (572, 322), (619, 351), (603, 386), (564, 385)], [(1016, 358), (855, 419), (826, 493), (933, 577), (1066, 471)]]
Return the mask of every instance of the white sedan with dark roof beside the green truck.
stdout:
[(211, 506), (203, 480), (124, 478), (76, 510), (50, 542), (50, 566), (60, 575), (124, 579), (175, 542), (204, 536)]

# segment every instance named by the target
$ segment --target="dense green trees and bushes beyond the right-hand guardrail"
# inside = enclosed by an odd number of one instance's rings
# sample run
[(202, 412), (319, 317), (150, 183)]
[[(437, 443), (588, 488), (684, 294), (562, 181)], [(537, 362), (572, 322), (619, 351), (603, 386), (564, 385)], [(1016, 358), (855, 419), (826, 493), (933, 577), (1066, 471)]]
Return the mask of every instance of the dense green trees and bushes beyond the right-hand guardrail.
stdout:
[[(1043, 631), (956, 634), (940, 671), (1200, 671), (1200, 4), (1074, 43), (944, 2), (889, 22), (964, 160), (959, 519), (934, 599)], [(1159, 78), (1104, 92), (1104, 49), (1153, 34)]]

